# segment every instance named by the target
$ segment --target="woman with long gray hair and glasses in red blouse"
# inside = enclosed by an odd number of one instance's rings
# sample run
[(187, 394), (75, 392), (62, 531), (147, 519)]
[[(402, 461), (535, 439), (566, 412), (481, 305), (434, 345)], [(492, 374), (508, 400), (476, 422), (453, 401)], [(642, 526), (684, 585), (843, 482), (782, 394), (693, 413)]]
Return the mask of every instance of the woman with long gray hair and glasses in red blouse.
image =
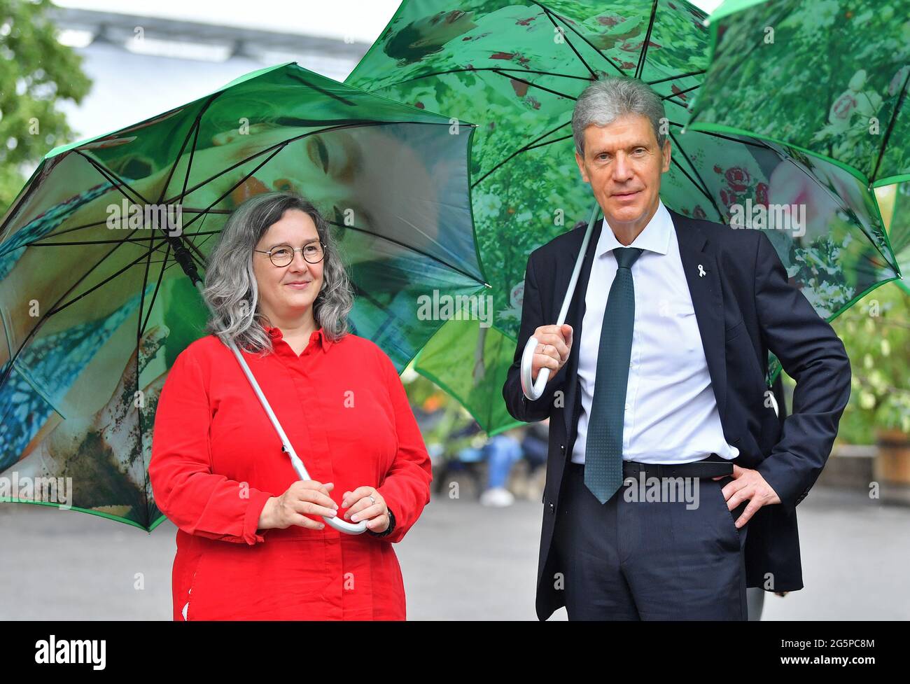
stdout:
[[(400, 541), (430, 500), (430, 457), (398, 372), (346, 332), (348, 277), (314, 206), (237, 207), (205, 297), (312, 480), (299, 481), (238, 360), (214, 334), (176, 359), (148, 468), (177, 525), (174, 619), (405, 619)], [(322, 516), (366, 520), (346, 535)]]

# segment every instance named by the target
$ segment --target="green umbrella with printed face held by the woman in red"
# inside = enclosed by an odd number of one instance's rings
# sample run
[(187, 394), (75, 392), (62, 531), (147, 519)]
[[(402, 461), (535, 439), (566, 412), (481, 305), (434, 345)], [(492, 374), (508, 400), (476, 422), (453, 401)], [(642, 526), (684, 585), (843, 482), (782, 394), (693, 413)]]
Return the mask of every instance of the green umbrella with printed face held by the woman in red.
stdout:
[(195, 272), (251, 195), (319, 206), (355, 287), (353, 331), (402, 370), (442, 325), (417, 315), (420, 294), (487, 289), (472, 134), (288, 64), (48, 153), (0, 226), (0, 482), (17, 483), (0, 497), (58, 505), (23, 483), (72, 478), (65, 505), (164, 519), (147, 478), (157, 392), (206, 334)]

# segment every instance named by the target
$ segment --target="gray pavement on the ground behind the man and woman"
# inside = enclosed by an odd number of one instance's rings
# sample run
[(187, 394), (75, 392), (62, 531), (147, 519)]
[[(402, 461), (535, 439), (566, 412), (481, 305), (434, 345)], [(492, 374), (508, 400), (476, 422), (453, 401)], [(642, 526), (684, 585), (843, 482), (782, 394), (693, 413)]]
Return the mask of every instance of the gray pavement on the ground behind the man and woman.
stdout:
[[(819, 486), (797, 510), (805, 588), (763, 619), (910, 618), (910, 508)], [(434, 498), (396, 545), (409, 618), (536, 619), (541, 517), (540, 498)], [(170, 619), (175, 531), (0, 504), (0, 619)]]

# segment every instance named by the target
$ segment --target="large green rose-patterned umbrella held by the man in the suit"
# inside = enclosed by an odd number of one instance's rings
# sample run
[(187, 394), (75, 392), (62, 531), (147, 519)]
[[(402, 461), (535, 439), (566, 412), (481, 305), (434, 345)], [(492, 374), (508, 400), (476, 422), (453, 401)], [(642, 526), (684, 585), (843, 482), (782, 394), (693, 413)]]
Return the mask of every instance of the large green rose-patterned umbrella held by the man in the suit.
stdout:
[[(782, 221), (764, 227), (820, 315), (833, 318), (896, 276), (875, 197), (843, 168), (752, 137), (682, 132), (708, 65), (705, 14), (693, 5), (459, 5), (402, 3), (347, 82), (478, 125), (471, 203), (494, 317), (491, 325), (490, 319), (450, 320), (415, 367), (488, 432), (516, 425), (501, 387), (517, 342), (525, 344), (516, 337), (528, 255), (576, 221), (588, 222), (591, 189), (575, 164), (571, 111), (592, 79), (637, 76), (662, 96), (673, 148), (662, 179), (666, 206), (722, 222), (737, 206), (805, 207), (803, 234), (784, 230)], [(557, 301), (565, 295), (555, 293)], [(772, 365), (771, 377), (777, 370)]]

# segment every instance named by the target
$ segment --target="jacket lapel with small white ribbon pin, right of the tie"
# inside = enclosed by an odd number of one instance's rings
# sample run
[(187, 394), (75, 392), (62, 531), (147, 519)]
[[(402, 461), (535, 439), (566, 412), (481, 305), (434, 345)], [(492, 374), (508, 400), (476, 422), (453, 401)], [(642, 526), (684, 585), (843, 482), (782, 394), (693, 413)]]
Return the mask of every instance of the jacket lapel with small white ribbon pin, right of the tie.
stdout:
[[(727, 362), (724, 344), (723, 291), (717, 271), (713, 245), (702, 228), (686, 216), (670, 212), (676, 239), (680, 246), (682, 271), (689, 284), (689, 294), (702, 337), (704, 357), (721, 424), (724, 424), (727, 397)], [(703, 275), (702, 275), (703, 274)]]

